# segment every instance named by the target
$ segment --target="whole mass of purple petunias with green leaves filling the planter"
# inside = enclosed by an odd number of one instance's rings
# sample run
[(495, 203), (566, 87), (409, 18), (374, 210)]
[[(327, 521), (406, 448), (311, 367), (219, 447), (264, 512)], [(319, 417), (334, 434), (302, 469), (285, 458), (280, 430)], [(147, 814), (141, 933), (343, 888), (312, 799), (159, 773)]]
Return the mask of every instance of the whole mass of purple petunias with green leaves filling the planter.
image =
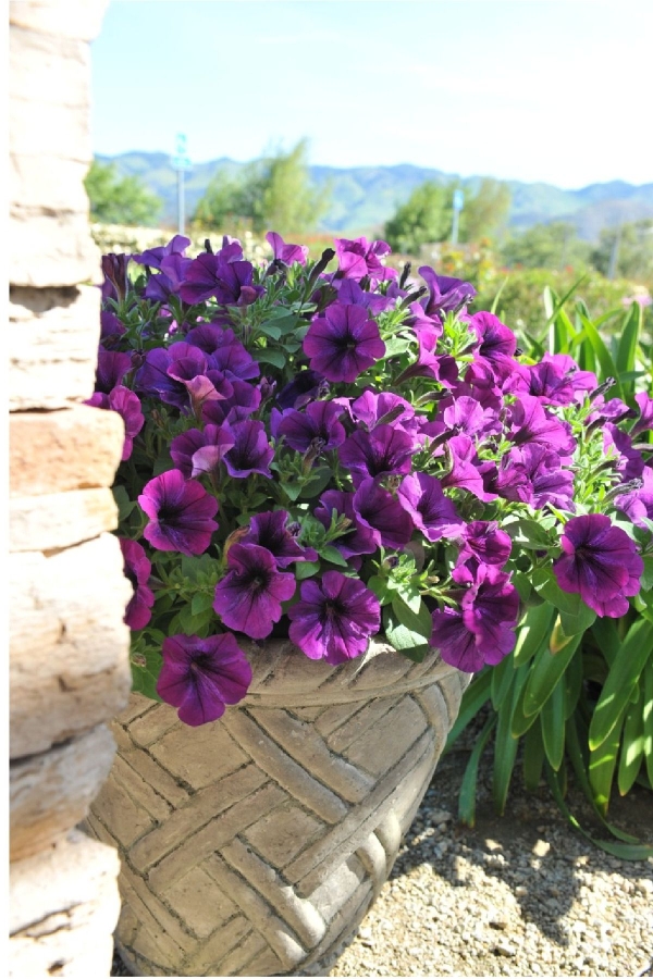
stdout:
[(383, 633), (466, 671), (569, 593), (616, 617), (651, 550), (651, 399), (534, 362), (469, 283), (390, 268), (383, 241), (317, 262), (270, 233), (106, 256), (97, 393), (121, 413), (114, 487), (135, 587), (135, 685), (190, 724), (242, 698), (241, 646), (346, 662)]

